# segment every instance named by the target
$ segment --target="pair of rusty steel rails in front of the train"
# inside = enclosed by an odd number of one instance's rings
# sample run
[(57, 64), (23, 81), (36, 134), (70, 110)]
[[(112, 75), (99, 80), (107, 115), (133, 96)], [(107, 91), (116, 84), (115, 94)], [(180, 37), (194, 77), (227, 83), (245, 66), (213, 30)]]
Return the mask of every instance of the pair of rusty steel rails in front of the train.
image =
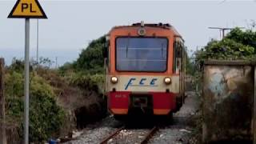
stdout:
[[(118, 130), (115, 130), (114, 133), (110, 134), (109, 136), (107, 136), (106, 138), (104, 138), (102, 140), (102, 142), (100, 142), (100, 144), (106, 144), (110, 141), (110, 139), (114, 139), (122, 130), (126, 130), (126, 126), (122, 126), (121, 128), (119, 128)], [(149, 142), (150, 138), (153, 137), (153, 135), (158, 131), (158, 126), (154, 126), (152, 129), (150, 129), (149, 132), (147, 132), (144, 136), (144, 138), (142, 139), (141, 142), (136, 142), (136, 143), (140, 143), (140, 144), (146, 144), (147, 142)]]

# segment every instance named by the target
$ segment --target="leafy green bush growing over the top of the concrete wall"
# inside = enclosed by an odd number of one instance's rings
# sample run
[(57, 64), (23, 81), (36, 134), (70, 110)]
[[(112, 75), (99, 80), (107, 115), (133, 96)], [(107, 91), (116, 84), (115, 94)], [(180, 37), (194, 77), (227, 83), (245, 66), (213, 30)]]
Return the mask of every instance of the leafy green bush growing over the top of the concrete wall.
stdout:
[[(211, 41), (195, 52), (195, 62), (202, 65), (207, 59), (255, 60), (256, 33), (251, 30), (231, 30), (221, 41)], [(200, 66), (199, 66), (200, 67)]]

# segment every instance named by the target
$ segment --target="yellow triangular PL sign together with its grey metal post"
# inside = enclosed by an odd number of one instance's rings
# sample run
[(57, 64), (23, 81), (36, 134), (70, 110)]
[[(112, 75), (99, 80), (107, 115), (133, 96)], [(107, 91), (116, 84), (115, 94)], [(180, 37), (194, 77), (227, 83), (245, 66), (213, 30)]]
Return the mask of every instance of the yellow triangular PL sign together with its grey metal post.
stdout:
[(29, 143), (30, 115), (30, 18), (47, 18), (38, 0), (18, 0), (8, 18), (25, 18), (24, 143)]

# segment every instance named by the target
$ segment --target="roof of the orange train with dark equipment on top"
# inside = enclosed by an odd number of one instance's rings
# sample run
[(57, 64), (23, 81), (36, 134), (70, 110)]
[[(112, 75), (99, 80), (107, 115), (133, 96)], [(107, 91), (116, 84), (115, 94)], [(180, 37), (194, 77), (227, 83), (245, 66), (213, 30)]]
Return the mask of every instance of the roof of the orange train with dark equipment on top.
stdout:
[(162, 22), (159, 22), (159, 23), (145, 23), (145, 24), (144, 23), (142, 24), (142, 22), (137, 22), (137, 23), (133, 23), (130, 26), (114, 26), (112, 28), (112, 30), (120, 29), (120, 28), (138, 27), (138, 26), (142, 26), (142, 25), (146, 26), (146, 27), (157, 27), (157, 28), (172, 30), (174, 32), (175, 37), (182, 38), (182, 35), (178, 33), (178, 31), (174, 28), (174, 26), (171, 26), (169, 23), (162, 23)]

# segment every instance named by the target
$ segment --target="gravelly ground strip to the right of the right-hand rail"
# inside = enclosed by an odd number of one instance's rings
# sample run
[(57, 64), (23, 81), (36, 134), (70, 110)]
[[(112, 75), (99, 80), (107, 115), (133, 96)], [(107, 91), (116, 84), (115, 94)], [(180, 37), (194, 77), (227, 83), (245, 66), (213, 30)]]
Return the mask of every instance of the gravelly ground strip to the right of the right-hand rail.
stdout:
[(186, 100), (181, 110), (174, 114), (173, 122), (154, 134), (150, 143), (190, 143), (195, 127), (191, 125), (193, 116), (198, 111), (198, 98), (194, 92), (186, 93)]

